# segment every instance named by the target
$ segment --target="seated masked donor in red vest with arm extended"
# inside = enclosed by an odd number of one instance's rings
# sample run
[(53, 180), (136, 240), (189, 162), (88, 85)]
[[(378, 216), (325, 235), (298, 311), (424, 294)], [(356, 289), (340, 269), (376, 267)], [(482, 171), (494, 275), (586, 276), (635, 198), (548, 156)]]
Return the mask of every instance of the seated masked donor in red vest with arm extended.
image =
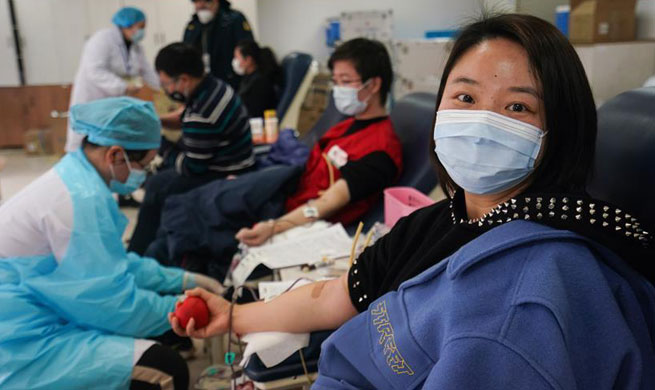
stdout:
[(352, 223), (401, 172), (402, 147), (385, 108), (392, 70), (384, 45), (350, 40), (334, 51), (328, 66), (335, 105), (351, 117), (314, 145), (298, 189), (286, 201), (287, 214), (237, 233), (247, 245), (315, 219)]

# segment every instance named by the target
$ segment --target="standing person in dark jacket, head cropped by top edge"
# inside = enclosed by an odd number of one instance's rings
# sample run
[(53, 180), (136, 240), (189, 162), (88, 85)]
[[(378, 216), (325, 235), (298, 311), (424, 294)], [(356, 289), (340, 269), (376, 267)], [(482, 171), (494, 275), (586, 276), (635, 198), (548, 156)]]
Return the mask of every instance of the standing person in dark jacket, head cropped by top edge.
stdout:
[(238, 90), (240, 77), (232, 70), (237, 42), (253, 39), (246, 17), (227, 0), (192, 0), (196, 13), (184, 30), (184, 43), (202, 52), (205, 72)]

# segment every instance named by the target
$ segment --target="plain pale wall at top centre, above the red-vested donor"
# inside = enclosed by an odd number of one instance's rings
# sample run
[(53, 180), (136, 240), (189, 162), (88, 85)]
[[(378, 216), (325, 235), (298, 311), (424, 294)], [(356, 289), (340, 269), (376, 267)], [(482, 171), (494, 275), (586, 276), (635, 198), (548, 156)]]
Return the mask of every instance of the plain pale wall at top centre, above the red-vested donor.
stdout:
[[(238, 8), (240, 1), (234, 0)], [(278, 58), (303, 51), (319, 61), (329, 55), (325, 21), (343, 11), (392, 9), (394, 38), (423, 38), (426, 30), (455, 29), (477, 16), (481, 0), (259, 0), (257, 17), (261, 44)]]

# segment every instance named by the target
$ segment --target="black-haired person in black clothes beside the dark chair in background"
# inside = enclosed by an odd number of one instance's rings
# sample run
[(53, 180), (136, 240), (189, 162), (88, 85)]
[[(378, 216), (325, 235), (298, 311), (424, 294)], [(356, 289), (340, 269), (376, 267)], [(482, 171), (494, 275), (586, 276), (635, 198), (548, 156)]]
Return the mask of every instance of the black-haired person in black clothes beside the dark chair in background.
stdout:
[(239, 85), (239, 97), (248, 109), (248, 116), (264, 116), (265, 110), (277, 106), (276, 88), (281, 78), (275, 55), (268, 47), (245, 39), (237, 43), (232, 59), (232, 70), (243, 76)]

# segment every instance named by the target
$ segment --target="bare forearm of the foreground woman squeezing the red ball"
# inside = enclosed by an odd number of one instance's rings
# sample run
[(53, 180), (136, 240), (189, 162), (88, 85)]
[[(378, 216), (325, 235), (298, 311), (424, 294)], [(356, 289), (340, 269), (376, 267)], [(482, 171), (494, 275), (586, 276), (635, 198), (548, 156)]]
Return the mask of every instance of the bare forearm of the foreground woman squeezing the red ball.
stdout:
[(304, 333), (335, 329), (357, 311), (345, 290), (344, 279), (316, 282), (289, 291), (269, 303), (235, 307), (234, 331)]

